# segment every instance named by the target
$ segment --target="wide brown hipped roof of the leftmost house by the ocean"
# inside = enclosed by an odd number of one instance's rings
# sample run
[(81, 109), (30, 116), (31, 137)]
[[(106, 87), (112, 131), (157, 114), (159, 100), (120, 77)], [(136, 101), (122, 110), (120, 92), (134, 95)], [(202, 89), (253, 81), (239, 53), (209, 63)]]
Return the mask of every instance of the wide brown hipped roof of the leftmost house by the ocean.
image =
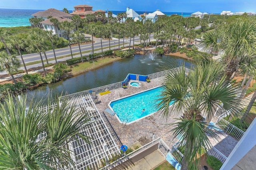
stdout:
[(48, 17), (48, 16), (52, 16), (52, 17), (59, 17), (59, 18), (67, 18), (67, 17), (72, 17), (72, 15), (66, 13), (66, 12), (62, 12), (60, 10), (56, 10), (54, 8), (50, 8), (48, 10), (45, 11), (40, 11), (40, 12), (36, 12), (34, 14), (32, 14), (32, 16), (36, 16), (36, 17)]

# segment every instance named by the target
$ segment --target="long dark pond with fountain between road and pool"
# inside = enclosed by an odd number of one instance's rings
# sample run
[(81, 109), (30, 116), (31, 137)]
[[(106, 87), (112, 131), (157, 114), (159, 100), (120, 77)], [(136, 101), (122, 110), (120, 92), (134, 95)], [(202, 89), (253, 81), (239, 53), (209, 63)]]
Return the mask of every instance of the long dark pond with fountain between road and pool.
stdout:
[(28, 92), (28, 97), (46, 98), (47, 94), (51, 96), (60, 96), (60, 94), (72, 94), (107, 84), (123, 81), (127, 74), (152, 74), (164, 70), (164, 66), (175, 68), (185, 63), (190, 68), (192, 63), (186, 59), (173, 56), (156, 56), (151, 61), (149, 55), (135, 55), (132, 58), (122, 59), (100, 68), (89, 70), (78, 76), (67, 78), (54, 84), (40, 86), (35, 90)]

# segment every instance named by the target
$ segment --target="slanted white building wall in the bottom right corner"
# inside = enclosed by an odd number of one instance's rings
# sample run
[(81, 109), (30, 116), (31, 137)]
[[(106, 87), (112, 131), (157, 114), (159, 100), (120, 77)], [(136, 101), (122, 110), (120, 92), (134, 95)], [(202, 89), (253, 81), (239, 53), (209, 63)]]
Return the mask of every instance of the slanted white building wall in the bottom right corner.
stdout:
[[(252, 152), (249, 152), (253, 147), (256, 145), (256, 119), (252, 121), (246, 132), (244, 133), (243, 137), (238, 141), (236, 144), (236, 147), (232, 150), (230, 155), (228, 156), (226, 162), (222, 165), (220, 170), (231, 170), (233, 167), (238, 164), (238, 162), (246, 155), (246, 154), (252, 154)], [(255, 158), (255, 153), (252, 155)], [(245, 156), (246, 157), (246, 156)], [(250, 156), (251, 157), (251, 156)], [(255, 159), (254, 159), (255, 160)], [(255, 168), (255, 162), (250, 161), (240, 161), (240, 168), (241, 166), (249, 167), (254, 166)], [(234, 169), (236, 169), (234, 167)], [(250, 169), (250, 168), (246, 168)], [(245, 170), (245, 169), (244, 169)]]

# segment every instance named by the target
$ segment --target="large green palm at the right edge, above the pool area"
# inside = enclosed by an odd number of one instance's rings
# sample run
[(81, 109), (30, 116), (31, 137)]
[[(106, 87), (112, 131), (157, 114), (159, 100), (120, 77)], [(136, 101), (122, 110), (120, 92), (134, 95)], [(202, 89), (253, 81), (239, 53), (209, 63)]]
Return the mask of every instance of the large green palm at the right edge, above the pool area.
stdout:
[(238, 68), (240, 60), (252, 57), (256, 51), (256, 23), (250, 21), (236, 21), (224, 25), (214, 31), (204, 34), (201, 41), (204, 49), (223, 51), (223, 61), (228, 77), (232, 78)]

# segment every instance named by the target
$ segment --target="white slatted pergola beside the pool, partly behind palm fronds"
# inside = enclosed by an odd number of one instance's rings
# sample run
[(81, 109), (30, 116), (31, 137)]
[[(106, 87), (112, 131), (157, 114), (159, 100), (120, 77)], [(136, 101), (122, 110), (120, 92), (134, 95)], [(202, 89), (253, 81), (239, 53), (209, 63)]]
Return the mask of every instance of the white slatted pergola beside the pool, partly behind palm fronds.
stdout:
[[(72, 158), (76, 163), (76, 170), (100, 169), (108, 164), (109, 158), (120, 155), (120, 144), (117, 137), (111, 132), (103, 115), (98, 111), (90, 95), (72, 98), (71, 103), (76, 104), (76, 109), (81, 113), (89, 113), (90, 125), (86, 126), (81, 133), (90, 137), (90, 144), (85, 143), (78, 137), (68, 144), (72, 150)], [(50, 107), (55, 107), (52, 104)], [(47, 111), (48, 106), (40, 107)], [(43, 137), (39, 136), (38, 138)], [(104, 163), (104, 165), (102, 164)]]

